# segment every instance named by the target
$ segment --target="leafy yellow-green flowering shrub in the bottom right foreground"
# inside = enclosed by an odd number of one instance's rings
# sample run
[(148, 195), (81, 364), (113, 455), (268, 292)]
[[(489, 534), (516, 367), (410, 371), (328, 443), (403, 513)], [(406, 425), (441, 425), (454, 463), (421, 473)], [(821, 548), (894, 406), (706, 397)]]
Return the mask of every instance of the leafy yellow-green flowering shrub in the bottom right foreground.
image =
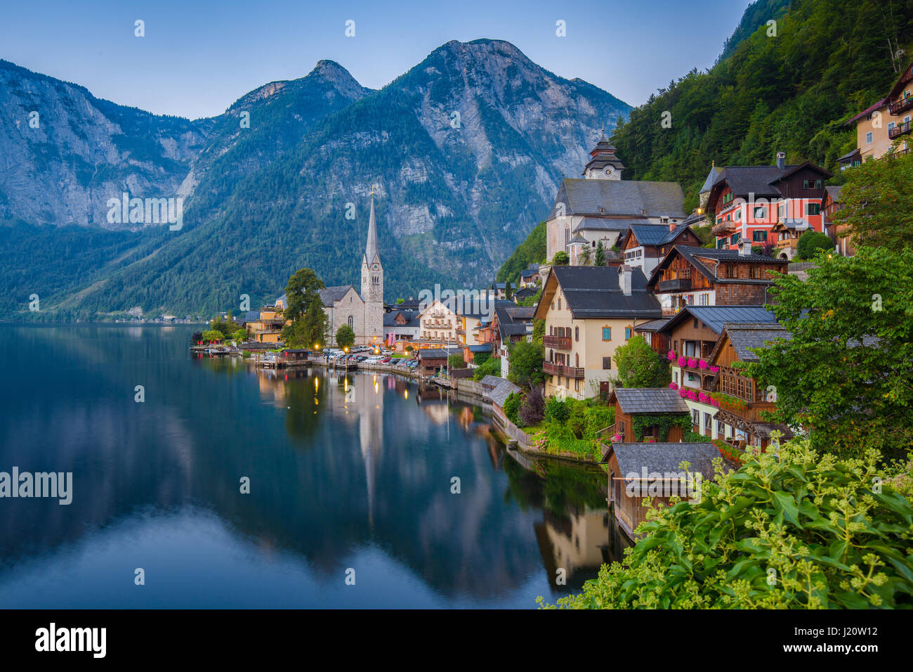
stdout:
[[(651, 513), (624, 565), (603, 565), (563, 609), (913, 606), (910, 465), (841, 459), (807, 441), (705, 481), (699, 504)], [(887, 479), (904, 491), (898, 493)]]

